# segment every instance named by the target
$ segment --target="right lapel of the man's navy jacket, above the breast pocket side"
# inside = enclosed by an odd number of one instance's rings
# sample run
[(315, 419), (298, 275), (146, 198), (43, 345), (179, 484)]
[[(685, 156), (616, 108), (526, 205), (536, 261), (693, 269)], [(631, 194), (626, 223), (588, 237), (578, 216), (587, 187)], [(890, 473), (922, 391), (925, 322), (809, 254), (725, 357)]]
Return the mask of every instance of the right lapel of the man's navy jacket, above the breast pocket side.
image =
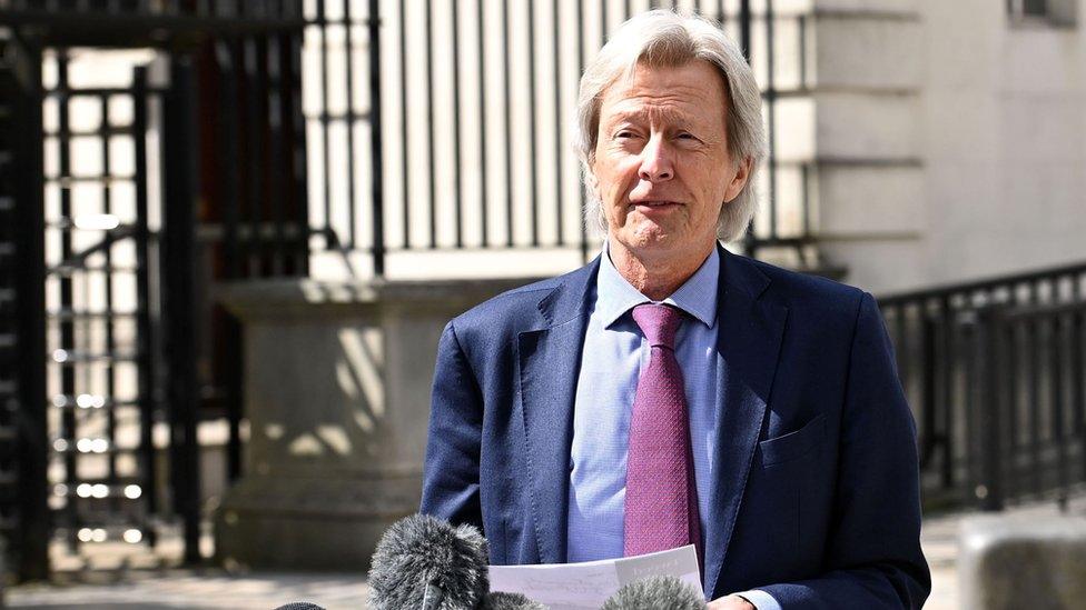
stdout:
[(705, 591), (713, 592), (728, 554), (747, 476), (761, 433), (788, 309), (759, 300), (769, 278), (750, 260), (720, 249), (718, 292), (717, 451), (707, 529)]

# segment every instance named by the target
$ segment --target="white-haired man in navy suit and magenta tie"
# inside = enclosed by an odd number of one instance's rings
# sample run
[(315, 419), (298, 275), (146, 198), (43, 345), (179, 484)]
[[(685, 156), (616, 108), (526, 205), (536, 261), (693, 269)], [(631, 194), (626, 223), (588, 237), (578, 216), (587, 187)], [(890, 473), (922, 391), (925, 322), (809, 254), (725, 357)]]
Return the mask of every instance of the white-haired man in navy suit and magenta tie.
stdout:
[(710, 608), (919, 608), (916, 429), (875, 300), (732, 254), (761, 99), (700, 18), (628, 21), (584, 72), (586, 267), (446, 326), (423, 512), (494, 563), (689, 543)]

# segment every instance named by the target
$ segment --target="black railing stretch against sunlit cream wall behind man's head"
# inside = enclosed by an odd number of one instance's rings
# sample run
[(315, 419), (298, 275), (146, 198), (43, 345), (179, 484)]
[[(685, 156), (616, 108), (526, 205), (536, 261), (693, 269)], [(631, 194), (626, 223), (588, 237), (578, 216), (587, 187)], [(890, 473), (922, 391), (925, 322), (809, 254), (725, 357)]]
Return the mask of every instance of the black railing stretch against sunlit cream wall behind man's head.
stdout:
[(577, 80), (625, 19), (680, 4), (741, 40), (763, 84), (766, 204), (746, 249), (810, 244), (813, 166), (776, 154), (779, 101), (810, 94), (806, 13), (779, 14), (772, 0), (318, 0), (303, 48), (309, 220), (326, 238), (316, 249), (361, 254), (363, 276), (405, 252), (586, 258), (596, 246), (569, 141)]

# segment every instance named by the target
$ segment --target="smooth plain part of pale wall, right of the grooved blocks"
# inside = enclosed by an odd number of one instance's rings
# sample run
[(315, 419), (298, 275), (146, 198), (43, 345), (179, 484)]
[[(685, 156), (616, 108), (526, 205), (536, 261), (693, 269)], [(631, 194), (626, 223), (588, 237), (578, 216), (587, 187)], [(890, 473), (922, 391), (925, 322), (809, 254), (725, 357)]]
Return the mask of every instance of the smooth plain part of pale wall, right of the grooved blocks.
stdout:
[(1086, 260), (1086, 28), (1011, 26), (984, 0), (924, 10), (927, 277)]

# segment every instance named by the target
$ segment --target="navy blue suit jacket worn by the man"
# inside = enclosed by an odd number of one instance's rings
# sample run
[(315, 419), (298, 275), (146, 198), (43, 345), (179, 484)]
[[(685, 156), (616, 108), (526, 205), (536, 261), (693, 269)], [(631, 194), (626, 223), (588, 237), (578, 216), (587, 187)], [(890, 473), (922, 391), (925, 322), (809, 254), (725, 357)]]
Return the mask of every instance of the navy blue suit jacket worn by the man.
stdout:
[[(721, 397), (703, 582), (784, 608), (919, 608), (916, 428), (870, 294), (718, 249)], [(573, 402), (599, 259), (451, 321), (422, 511), (496, 564), (566, 559)]]

